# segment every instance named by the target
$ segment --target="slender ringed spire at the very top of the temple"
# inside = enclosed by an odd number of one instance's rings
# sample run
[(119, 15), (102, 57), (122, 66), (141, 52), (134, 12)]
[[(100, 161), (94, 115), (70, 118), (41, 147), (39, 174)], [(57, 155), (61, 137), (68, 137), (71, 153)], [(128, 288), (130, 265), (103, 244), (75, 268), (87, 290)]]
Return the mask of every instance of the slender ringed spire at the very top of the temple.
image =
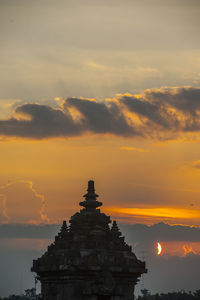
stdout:
[(95, 193), (93, 180), (88, 181), (87, 194), (85, 194), (83, 197), (85, 198), (85, 201), (82, 201), (79, 204), (85, 207), (85, 209), (88, 211), (94, 211), (97, 207), (102, 205), (102, 202), (96, 200), (99, 195)]

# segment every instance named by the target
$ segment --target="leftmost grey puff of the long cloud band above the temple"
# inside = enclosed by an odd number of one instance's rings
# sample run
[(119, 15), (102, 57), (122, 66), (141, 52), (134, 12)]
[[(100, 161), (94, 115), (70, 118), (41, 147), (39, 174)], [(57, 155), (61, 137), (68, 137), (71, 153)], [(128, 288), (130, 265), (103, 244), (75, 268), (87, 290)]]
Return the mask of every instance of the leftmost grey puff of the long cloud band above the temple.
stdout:
[(81, 128), (77, 126), (68, 111), (54, 109), (47, 105), (24, 104), (16, 108), (15, 113), (30, 118), (0, 121), (0, 134), (26, 138), (48, 138), (79, 135)]

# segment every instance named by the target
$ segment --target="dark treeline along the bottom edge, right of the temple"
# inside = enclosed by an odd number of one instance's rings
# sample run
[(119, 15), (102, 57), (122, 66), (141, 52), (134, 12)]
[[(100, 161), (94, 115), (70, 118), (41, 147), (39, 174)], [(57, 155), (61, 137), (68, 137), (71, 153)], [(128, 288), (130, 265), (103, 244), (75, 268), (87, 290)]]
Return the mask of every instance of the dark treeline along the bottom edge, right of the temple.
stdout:
[(142, 296), (136, 297), (136, 300), (200, 300), (200, 290), (195, 292), (185, 292), (181, 290), (179, 292), (161, 293), (151, 295), (146, 289), (141, 290)]

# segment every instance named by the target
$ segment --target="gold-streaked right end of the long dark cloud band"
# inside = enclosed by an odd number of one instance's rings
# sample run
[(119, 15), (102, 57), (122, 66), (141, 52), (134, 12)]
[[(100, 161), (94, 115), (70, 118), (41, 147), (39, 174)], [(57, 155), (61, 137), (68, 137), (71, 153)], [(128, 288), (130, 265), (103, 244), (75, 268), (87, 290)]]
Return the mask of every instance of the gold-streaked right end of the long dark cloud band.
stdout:
[(199, 88), (152, 89), (144, 91), (139, 98), (132, 95), (121, 96), (120, 101), (131, 112), (139, 115), (146, 129), (149, 126), (157, 125), (161, 127), (157, 127), (157, 130), (160, 131), (193, 132), (200, 130)]

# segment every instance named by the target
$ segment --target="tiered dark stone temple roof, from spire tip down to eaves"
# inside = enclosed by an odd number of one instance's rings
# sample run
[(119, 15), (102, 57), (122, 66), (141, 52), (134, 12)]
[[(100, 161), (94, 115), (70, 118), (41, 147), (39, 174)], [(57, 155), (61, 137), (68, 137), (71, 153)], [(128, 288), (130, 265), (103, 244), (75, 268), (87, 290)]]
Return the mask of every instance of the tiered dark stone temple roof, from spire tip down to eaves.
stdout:
[(34, 260), (32, 271), (44, 274), (82, 274), (106, 270), (138, 278), (146, 272), (145, 263), (138, 260), (131, 246), (124, 241), (116, 221), (98, 209), (94, 181), (88, 182), (83, 208), (67, 225), (63, 221), (55, 241), (42, 257)]

